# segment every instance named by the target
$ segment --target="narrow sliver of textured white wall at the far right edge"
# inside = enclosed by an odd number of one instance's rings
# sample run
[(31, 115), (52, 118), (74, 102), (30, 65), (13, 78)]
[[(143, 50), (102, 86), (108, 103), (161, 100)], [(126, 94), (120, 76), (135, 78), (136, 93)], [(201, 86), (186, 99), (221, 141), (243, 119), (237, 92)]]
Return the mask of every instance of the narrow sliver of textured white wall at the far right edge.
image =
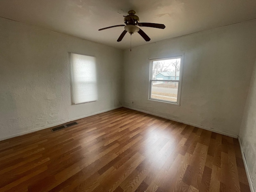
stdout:
[(256, 189), (256, 61), (239, 136), (252, 178), (252, 184)]

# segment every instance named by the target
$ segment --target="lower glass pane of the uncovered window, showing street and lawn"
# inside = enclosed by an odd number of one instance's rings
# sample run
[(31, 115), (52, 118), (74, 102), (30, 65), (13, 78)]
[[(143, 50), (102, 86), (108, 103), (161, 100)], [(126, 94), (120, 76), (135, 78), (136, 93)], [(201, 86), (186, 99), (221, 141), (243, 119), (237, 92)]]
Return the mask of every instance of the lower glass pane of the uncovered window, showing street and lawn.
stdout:
[(178, 82), (152, 81), (151, 98), (177, 102)]

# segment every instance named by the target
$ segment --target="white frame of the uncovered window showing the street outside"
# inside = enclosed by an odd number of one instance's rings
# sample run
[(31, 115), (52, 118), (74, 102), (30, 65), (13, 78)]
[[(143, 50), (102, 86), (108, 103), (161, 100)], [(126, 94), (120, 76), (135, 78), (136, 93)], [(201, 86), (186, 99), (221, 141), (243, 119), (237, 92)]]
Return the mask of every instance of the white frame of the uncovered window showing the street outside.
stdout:
[[(154, 81), (163, 81), (163, 80), (153, 79), (153, 74), (152, 74), (153, 62), (154, 61), (169, 60), (169, 59), (176, 59), (176, 58), (180, 58), (179, 80), (164, 80), (164, 81), (165, 82), (178, 82), (177, 101), (173, 102), (173, 101), (168, 101), (168, 100), (151, 98), (152, 82), (154, 82)], [(160, 102), (160, 103), (166, 103), (166, 104), (171, 104), (171, 105), (175, 105), (175, 106), (180, 106), (181, 89), (182, 89), (182, 76), (183, 76), (183, 66), (184, 66), (184, 53), (183, 54), (170, 55), (170, 56), (164, 56), (164, 57), (154, 57), (154, 58), (149, 58), (149, 60), (150, 60), (150, 74), (149, 74), (148, 100), (153, 101), (153, 102)]]

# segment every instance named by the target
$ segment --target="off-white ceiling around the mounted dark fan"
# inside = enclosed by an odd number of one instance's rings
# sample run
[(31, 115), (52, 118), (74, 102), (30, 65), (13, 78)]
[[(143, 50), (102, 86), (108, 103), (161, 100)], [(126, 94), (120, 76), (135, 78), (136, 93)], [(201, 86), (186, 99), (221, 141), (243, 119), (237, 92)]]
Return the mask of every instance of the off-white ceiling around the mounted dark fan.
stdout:
[(166, 28), (142, 27), (151, 38), (138, 33), (132, 46), (141, 46), (203, 30), (256, 18), (256, 0), (1, 0), (0, 17), (69, 34), (116, 48), (129, 48), (130, 35), (116, 42), (123, 15), (135, 10), (140, 22), (165, 24)]

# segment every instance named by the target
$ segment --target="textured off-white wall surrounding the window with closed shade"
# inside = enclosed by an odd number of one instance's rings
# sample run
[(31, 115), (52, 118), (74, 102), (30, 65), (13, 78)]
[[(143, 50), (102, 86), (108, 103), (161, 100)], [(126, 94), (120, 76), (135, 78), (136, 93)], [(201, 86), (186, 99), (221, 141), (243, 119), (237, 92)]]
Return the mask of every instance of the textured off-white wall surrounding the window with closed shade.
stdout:
[[(123, 51), (0, 18), (0, 140), (121, 105)], [(71, 104), (68, 52), (96, 56), (98, 101)]]

